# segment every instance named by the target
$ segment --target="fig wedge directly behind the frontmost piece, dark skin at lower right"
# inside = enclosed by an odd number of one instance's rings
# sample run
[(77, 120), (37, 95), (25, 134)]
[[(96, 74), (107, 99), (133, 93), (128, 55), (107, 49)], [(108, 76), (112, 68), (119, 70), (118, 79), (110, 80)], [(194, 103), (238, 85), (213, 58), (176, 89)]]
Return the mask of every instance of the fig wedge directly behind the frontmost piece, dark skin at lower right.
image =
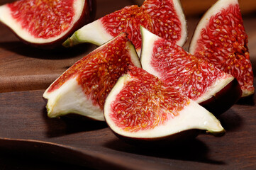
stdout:
[(141, 34), (140, 62), (150, 74), (214, 115), (224, 113), (240, 99), (238, 81), (230, 74), (143, 27)]

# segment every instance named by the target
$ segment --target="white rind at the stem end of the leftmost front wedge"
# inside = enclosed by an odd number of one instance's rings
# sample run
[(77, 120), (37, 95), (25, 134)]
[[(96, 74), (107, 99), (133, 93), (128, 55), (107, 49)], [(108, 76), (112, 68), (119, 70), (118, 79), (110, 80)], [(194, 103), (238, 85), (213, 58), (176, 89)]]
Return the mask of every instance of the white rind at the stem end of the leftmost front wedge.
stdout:
[(77, 113), (95, 120), (104, 121), (104, 115), (99, 106), (84, 94), (82, 86), (77, 82), (77, 77), (73, 77), (65, 82), (59, 89), (43, 94), (48, 99), (47, 110), (49, 118), (60, 117), (68, 113)]

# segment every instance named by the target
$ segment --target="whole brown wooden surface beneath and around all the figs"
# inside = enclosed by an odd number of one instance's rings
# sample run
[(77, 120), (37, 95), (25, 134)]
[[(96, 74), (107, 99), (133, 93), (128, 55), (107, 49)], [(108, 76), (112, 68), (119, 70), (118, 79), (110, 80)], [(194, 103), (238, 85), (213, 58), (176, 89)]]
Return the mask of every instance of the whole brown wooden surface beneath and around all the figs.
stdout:
[[(99, 0), (96, 18), (129, 4)], [(244, 20), (256, 73), (256, 16)], [(189, 40), (198, 21), (188, 18)], [(38, 50), (4, 26), (0, 37), (0, 169), (256, 169), (255, 95), (219, 117), (223, 137), (199, 135), (179, 146), (135, 147), (105, 123), (46, 115), (45, 89), (94, 45)]]

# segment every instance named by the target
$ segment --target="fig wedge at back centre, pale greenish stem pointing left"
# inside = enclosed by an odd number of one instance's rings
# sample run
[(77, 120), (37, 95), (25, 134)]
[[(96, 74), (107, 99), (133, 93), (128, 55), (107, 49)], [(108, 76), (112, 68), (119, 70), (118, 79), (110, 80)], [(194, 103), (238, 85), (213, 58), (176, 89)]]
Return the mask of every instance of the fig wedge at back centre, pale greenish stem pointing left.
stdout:
[(77, 30), (63, 45), (82, 42), (101, 45), (119, 33), (128, 38), (140, 53), (140, 25), (182, 46), (187, 40), (187, 22), (179, 0), (145, 0), (142, 6), (126, 6)]

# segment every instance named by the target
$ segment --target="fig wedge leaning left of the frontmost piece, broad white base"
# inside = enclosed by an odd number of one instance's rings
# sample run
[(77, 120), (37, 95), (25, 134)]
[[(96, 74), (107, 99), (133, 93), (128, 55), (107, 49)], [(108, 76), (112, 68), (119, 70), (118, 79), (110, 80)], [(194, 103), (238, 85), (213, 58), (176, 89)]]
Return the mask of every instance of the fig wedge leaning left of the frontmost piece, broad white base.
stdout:
[(135, 47), (122, 33), (77, 61), (46, 89), (48, 117), (76, 113), (104, 121), (106, 96), (128, 65), (141, 67)]

